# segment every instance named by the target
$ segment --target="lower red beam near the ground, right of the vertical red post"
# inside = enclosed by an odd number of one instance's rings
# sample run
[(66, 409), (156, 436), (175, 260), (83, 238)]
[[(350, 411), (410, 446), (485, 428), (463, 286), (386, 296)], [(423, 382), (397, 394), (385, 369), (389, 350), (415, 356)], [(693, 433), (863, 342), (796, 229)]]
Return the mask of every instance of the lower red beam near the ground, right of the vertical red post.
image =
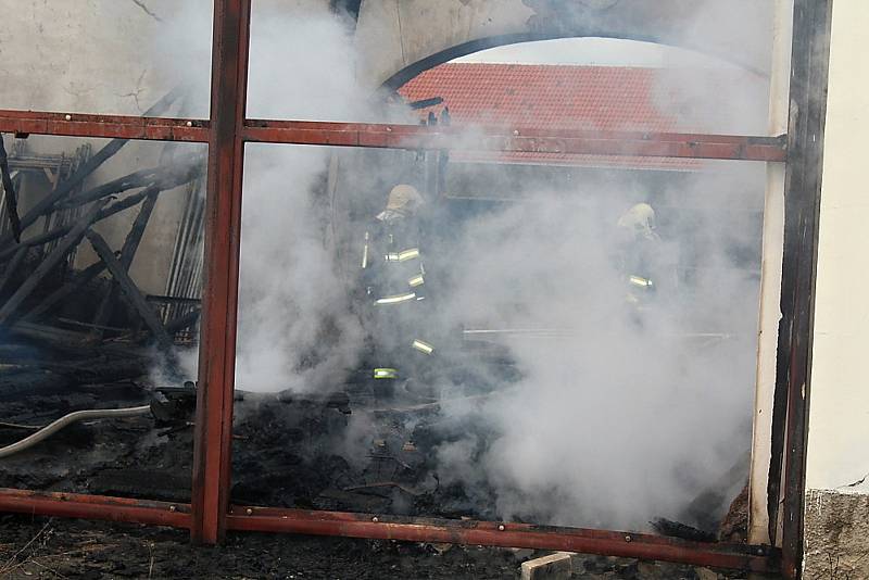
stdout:
[(232, 506), (227, 527), (243, 531), (559, 550), (755, 572), (779, 569), (779, 552), (769, 546), (698, 543), (643, 533), (528, 524)]

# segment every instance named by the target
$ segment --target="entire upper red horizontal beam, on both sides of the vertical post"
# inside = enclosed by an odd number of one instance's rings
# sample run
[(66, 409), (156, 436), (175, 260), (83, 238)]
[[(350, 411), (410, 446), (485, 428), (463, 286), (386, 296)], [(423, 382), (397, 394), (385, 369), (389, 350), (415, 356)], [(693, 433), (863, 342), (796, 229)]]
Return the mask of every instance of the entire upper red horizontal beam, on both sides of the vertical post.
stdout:
[[(0, 133), (207, 142), (210, 122), (0, 110)], [(247, 121), (245, 141), (395, 149), (509, 151), (583, 155), (783, 162), (779, 137), (370, 123)]]

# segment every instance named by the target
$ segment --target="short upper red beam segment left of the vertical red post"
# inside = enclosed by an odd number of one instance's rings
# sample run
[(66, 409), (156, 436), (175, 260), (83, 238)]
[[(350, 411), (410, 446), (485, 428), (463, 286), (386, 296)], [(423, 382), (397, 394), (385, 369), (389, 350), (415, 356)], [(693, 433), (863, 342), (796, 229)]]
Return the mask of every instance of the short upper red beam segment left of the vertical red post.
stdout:
[(0, 110), (0, 133), (204, 143), (210, 131), (201, 119)]

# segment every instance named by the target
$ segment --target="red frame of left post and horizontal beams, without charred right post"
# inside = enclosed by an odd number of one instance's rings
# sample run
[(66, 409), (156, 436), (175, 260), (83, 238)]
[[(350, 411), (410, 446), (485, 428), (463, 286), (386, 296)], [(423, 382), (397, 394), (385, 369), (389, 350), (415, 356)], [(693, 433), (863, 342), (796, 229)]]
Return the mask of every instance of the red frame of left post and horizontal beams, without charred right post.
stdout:
[[(799, 0), (802, 3), (806, 1)], [(781, 570), (782, 553), (769, 546), (701, 544), (647, 534), (524, 524), (405, 519), (364, 514), (229, 506), (241, 185), (245, 142), (789, 161), (783, 137), (601, 134), (524, 128), (477, 128), (468, 136), (456, 127), (245, 119), (250, 4), (251, 0), (214, 2), (212, 106), (209, 121), (0, 110), (0, 133), (14, 133), (18, 136), (40, 134), (155, 139), (207, 142), (210, 146), (205, 227), (207, 270), (200, 342), (200, 390), (191, 504), (0, 489), (0, 512), (189, 528), (194, 541), (206, 543), (219, 542), (227, 529), (257, 530), (526, 546), (666, 559), (751, 571)], [(790, 165), (789, 163), (789, 171)], [(793, 390), (789, 392), (791, 398), (795, 396)], [(802, 417), (797, 420), (802, 420)], [(785, 457), (790, 459), (791, 456), (792, 450), (785, 450)], [(796, 491), (802, 492), (802, 487)], [(791, 489), (791, 493), (795, 491)], [(793, 552), (793, 547), (788, 550)], [(785, 559), (790, 558), (789, 562), (793, 559), (791, 553), (783, 556)]]

